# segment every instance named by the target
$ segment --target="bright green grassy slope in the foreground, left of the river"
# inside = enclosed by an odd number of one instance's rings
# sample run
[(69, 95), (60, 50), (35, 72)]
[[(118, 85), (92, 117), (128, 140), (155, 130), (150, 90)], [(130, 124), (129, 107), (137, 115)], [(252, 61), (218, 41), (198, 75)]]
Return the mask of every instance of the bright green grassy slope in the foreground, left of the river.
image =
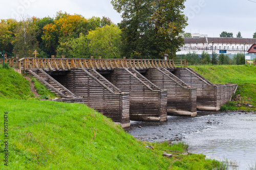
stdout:
[[(16, 72), (0, 68), (0, 80), (7, 74), (13, 76), (8, 76), (6, 82), (13, 83), (16, 79), (22, 80), (17, 87), (22, 87), (23, 82), (27, 84)], [(12, 85), (5, 81), (1, 81), (1, 87)], [(20, 100), (30, 95), (29, 86), (23, 90), (28, 93), (9, 95), (12, 91), (6, 90), (9, 96), (0, 96), (2, 117), (8, 112), (8, 169), (212, 169), (221, 166), (218, 161), (205, 160), (203, 155), (181, 154), (186, 149), (183, 144), (140, 142), (111, 119), (83, 104)], [(3, 123), (4, 118), (0, 121)], [(3, 131), (1, 126), (0, 132)], [(5, 153), (3, 135), (0, 134), (1, 157)], [(150, 144), (153, 150), (145, 147)], [(162, 151), (173, 153), (173, 158), (163, 157)], [(3, 159), (0, 167), (6, 168)]]

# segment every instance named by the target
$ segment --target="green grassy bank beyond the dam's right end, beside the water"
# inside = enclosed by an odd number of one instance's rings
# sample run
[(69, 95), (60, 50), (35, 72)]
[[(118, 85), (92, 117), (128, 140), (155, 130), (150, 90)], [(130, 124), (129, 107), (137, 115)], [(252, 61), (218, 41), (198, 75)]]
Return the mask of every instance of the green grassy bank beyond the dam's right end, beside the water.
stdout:
[[(238, 84), (236, 95), (241, 95), (241, 100), (234, 102), (240, 104), (240, 107), (228, 103), (223, 110), (255, 110), (248, 108), (243, 104), (256, 106), (256, 66), (249, 65), (202, 65), (189, 66), (197, 71), (200, 75), (215, 84), (233, 83)], [(236, 95), (234, 98), (236, 98)]]

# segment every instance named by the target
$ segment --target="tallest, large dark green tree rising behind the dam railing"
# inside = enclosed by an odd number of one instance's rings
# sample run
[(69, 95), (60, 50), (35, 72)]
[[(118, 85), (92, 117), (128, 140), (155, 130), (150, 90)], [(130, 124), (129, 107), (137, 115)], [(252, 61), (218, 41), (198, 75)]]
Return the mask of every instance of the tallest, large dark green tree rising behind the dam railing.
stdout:
[(175, 54), (183, 44), (187, 26), (184, 0), (112, 0), (123, 20), (119, 23), (121, 54), (129, 58), (162, 58)]

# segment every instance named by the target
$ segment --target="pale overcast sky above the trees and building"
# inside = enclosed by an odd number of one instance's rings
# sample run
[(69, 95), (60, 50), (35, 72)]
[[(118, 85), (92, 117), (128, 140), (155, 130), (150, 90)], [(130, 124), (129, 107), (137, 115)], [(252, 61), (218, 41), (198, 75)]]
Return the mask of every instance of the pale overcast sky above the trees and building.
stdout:
[[(254, 1), (254, 0), (252, 0)], [(16, 18), (23, 13), (39, 18), (53, 17), (56, 11), (92, 16), (110, 17), (114, 23), (121, 21), (111, 0), (0, 0), (0, 18)], [(256, 2), (256, 0), (255, 0)], [(240, 31), (243, 38), (252, 38), (256, 32), (256, 3), (248, 0), (188, 0), (185, 3), (188, 26), (185, 32), (207, 34), (219, 37), (222, 31), (232, 32), (236, 37)]]

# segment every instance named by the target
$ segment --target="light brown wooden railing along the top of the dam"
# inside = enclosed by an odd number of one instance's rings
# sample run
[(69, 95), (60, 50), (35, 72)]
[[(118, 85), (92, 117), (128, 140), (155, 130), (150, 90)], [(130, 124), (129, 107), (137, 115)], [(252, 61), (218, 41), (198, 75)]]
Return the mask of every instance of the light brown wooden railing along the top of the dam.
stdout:
[(176, 67), (187, 67), (186, 60), (22, 58), (18, 61), (19, 62), (17, 62), (17, 60), (7, 60), (5, 62), (9, 63), (13, 68), (20, 68), (23, 70), (33, 68), (42, 68), (44, 70), (67, 70), (71, 68), (112, 70), (114, 68), (147, 69), (151, 67), (161, 67), (174, 69)]

